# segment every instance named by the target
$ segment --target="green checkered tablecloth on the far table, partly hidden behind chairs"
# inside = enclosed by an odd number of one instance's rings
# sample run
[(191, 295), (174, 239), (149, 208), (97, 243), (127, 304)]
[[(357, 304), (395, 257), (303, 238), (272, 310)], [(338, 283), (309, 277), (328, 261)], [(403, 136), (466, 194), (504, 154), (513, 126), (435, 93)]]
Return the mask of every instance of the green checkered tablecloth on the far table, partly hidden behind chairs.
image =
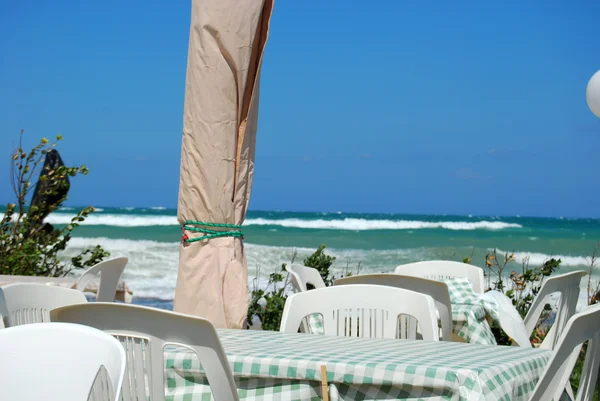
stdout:
[[(493, 305), (485, 304), (473, 291), (467, 278), (445, 279), (452, 302), (452, 332), (468, 343), (496, 345), (496, 338), (487, 321), (489, 311)], [(497, 320), (497, 316), (490, 316)], [(308, 327), (312, 334), (323, 334), (323, 320), (321, 315), (310, 315)]]

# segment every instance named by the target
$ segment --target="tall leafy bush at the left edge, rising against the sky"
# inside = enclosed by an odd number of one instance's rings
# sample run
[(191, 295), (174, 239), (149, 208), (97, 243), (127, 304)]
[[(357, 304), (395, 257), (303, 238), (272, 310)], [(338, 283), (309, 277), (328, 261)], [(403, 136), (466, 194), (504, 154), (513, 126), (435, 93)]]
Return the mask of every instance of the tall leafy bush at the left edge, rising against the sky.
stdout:
[[(70, 224), (55, 229), (44, 224), (44, 218), (58, 209), (66, 200), (68, 177), (86, 175), (85, 166), (50, 168), (43, 161), (53, 151), (56, 143), (49, 144), (46, 138), (29, 153), (22, 147), (23, 132), (19, 147), (12, 153), (11, 176), (16, 202), (6, 206), (0, 221), (0, 274), (23, 276), (61, 277), (72, 269), (84, 268), (101, 262), (109, 255), (99, 245), (85, 249), (70, 260), (63, 260), (59, 253), (71, 239), (73, 230), (94, 211), (92, 206), (80, 210)], [(56, 137), (57, 141), (62, 136)], [(39, 172), (37, 182), (34, 182)], [(30, 192), (36, 188), (41, 199), (27, 208)]]

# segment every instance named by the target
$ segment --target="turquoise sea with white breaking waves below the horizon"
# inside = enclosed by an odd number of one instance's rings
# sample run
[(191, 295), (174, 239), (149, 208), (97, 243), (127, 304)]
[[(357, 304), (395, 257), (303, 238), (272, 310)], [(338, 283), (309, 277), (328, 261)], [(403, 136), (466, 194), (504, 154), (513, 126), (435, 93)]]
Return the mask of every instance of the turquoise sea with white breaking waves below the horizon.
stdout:
[[(47, 218), (68, 224), (77, 208), (63, 207)], [(462, 260), (484, 266), (493, 249), (512, 253), (516, 262), (505, 271), (521, 270), (523, 261), (540, 265), (560, 258), (559, 270), (590, 268), (600, 241), (599, 219), (521, 216), (450, 216), (300, 213), (250, 211), (243, 225), (250, 289), (264, 288), (270, 273), (310, 255), (321, 244), (336, 257), (333, 271), (393, 272), (400, 264), (431, 260)], [(136, 303), (171, 308), (175, 293), (181, 228), (177, 211), (165, 207), (97, 208), (74, 231), (65, 256), (102, 245), (111, 256), (126, 256), (123, 279)], [(595, 276), (600, 272), (594, 267)], [(587, 278), (582, 281), (585, 299)]]

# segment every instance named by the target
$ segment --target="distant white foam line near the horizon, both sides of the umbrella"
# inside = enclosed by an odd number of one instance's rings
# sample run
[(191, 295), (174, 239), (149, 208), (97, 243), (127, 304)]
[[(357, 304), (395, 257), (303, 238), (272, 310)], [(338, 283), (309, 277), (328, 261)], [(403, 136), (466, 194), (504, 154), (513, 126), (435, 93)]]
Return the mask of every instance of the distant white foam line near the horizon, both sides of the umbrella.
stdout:
[[(68, 224), (73, 216), (66, 213), (53, 213), (48, 217), (51, 224)], [(144, 227), (177, 225), (175, 216), (159, 215), (122, 215), (102, 214), (90, 215), (82, 223), (85, 225), (102, 225), (114, 227)], [(279, 226), (288, 228), (321, 229), (321, 230), (502, 230), (506, 228), (522, 228), (520, 224), (502, 221), (419, 221), (419, 220), (367, 220), (367, 219), (335, 219), (335, 220), (302, 220), (302, 219), (247, 219), (244, 226)]]

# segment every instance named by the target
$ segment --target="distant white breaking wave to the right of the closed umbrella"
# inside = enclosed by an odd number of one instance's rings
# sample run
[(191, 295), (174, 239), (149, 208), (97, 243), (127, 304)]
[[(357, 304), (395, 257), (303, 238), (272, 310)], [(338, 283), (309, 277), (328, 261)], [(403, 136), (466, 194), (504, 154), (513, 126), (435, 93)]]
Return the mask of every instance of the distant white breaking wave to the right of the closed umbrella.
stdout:
[(502, 221), (419, 221), (419, 220), (367, 220), (345, 218), (339, 220), (301, 220), (301, 219), (248, 219), (245, 225), (252, 226), (281, 226), (290, 228), (309, 228), (322, 230), (418, 230), (436, 229), (447, 230), (502, 230), (506, 228), (522, 228), (516, 223)]

